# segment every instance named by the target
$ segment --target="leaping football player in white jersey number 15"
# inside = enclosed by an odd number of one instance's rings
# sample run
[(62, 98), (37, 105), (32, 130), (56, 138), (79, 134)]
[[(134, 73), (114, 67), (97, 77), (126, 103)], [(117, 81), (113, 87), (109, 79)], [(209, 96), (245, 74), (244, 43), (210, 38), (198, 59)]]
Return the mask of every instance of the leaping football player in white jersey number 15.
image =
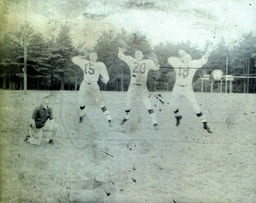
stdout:
[(111, 126), (112, 118), (104, 104), (104, 100), (100, 93), (98, 85), (99, 78), (105, 84), (109, 81), (108, 71), (104, 63), (97, 61), (98, 55), (96, 52), (89, 53), (89, 60), (86, 59), (87, 51), (80, 50), (80, 55), (72, 58), (72, 62), (77, 64), (84, 72), (84, 80), (80, 85), (79, 90), (79, 103), (80, 103), (80, 117), (79, 123), (83, 122), (85, 116), (85, 103), (86, 97), (92, 97), (95, 99), (97, 105), (101, 108), (106, 119), (108, 120), (109, 126)]

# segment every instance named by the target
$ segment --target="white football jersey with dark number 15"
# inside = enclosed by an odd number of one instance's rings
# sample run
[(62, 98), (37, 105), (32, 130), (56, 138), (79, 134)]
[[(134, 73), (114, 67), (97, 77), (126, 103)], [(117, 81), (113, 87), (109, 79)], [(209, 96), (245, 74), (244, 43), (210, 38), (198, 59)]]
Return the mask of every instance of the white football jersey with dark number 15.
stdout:
[(99, 77), (101, 76), (102, 82), (105, 84), (109, 81), (108, 71), (104, 63), (102, 62), (90, 62), (81, 56), (72, 58), (74, 64), (80, 66), (84, 72), (84, 82), (97, 84)]

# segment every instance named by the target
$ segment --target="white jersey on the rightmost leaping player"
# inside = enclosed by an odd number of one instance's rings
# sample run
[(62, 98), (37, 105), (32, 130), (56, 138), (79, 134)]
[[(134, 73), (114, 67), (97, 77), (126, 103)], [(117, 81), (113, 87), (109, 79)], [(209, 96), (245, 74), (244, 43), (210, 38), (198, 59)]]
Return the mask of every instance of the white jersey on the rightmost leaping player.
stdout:
[(203, 57), (199, 60), (192, 60), (190, 63), (183, 63), (180, 58), (170, 57), (168, 63), (173, 66), (176, 72), (175, 85), (192, 86), (193, 77), (196, 71), (207, 63), (207, 59)]

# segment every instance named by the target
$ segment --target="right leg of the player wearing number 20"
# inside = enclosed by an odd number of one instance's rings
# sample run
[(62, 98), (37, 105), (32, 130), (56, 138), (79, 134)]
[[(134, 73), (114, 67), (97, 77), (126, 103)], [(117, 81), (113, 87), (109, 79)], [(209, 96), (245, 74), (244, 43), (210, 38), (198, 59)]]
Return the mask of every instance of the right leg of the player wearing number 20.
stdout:
[(155, 112), (154, 112), (154, 109), (151, 105), (151, 102), (150, 102), (150, 98), (149, 98), (149, 92), (147, 90), (147, 87), (141, 87), (139, 89), (139, 96), (142, 97), (142, 101), (144, 103), (144, 106), (146, 107), (150, 117), (151, 117), (151, 121), (152, 121), (152, 124), (154, 126), (155, 129), (157, 129), (158, 127), (158, 123), (157, 123), (157, 119), (156, 119), (156, 115), (155, 115)]

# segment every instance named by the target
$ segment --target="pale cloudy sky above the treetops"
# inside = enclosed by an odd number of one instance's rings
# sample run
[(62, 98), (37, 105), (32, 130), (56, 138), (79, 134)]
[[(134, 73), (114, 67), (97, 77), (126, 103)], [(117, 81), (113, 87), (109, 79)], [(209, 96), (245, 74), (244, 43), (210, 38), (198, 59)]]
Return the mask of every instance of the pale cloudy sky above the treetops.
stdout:
[[(103, 31), (109, 30), (141, 31), (152, 46), (190, 40), (199, 47), (206, 41), (217, 43), (221, 37), (231, 45), (244, 33), (256, 31), (255, 0), (26, 1), (27, 21), (35, 30), (50, 38), (57, 35), (62, 24), (67, 24), (74, 44), (85, 41), (88, 47), (95, 44)], [(25, 0), (0, 2), (2, 30), (19, 29), (25, 22)]]

